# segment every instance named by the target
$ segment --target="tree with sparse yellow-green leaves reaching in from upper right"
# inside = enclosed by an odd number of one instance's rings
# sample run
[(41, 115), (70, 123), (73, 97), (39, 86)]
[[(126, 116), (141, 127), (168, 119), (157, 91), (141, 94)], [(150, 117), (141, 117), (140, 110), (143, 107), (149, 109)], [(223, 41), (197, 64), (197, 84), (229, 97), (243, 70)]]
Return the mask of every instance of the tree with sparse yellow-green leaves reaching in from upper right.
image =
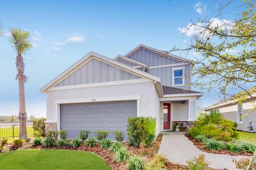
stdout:
[[(191, 84), (202, 90), (217, 89), (224, 99), (242, 103), (249, 97), (255, 99), (256, 94), (256, 5), (255, 1), (240, 5), (233, 0), (224, 2), (216, 16), (188, 24), (183, 33), (190, 33), (191, 43), (186, 48), (175, 46), (170, 52), (200, 54), (195, 59)], [(237, 19), (218, 19), (229, 5), (237, 5)], [(248, 85), (254, 87), (248, 90)], [(241, 92), (233, 94), (234, 89)]]

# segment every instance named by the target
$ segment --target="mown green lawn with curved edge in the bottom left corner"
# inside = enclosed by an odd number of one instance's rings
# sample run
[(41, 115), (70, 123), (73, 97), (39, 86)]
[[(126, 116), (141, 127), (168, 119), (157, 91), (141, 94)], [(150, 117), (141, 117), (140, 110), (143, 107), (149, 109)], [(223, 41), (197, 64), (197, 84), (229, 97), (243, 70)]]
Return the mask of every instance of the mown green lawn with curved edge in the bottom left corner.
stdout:
[(0, 154), (0, 169), (111, 169), (100, 156), (75, 150), (18, 150)]

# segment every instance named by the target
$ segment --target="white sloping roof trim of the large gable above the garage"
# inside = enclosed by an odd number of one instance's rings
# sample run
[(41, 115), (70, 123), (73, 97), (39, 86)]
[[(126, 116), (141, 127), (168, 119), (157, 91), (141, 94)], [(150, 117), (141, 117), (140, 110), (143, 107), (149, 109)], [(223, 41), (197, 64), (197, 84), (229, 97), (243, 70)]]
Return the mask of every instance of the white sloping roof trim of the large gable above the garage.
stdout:
[(140, 75), (144, 78), (154, 80), (155, 82), (160, 82), (160, 78), (158, 78), (157, 76), (145, 73), (141, 70), (138, 70), (138, 69), (135, 69), (133, 67), (127, 66), (127, 65), (125, 65), (123, 63), (120, 63), (118, 61), (114, 61), (113, 59), (102, 56), (101, 54), (98, 54), (96, 52), (89, 52), (84, 57), (79, 59), (79, 61), (75, 62), (72, 66), (68, 67), (67, 70), (63, 71), (63, 73), (56, 76), (56, 78), (52, 79), (51, 82), (49, 82), (44, 87), (42, 87), (40, 89), (40, 92), (46, 92), (48, 90), (48, 88), (50, 88), (52, 86), (55, 86), (56, 83), (60, 82), (61, 80), (66, 78), (68, 75), (72, 74), (74, 71), (79, 69), (79, 67), (81, 67), (86, 61), (89, 61), (89, 59), (91, 59), (92, 57), (94, 57), (96, 59), (99, 59), (101, 61), (104, 61), (106, 63), (111, 63), (114, 66), (121, 67), (123, 70), (126, 70), (130, 73), (135, 73), (135, 74), (138, 74), (138, 75)]

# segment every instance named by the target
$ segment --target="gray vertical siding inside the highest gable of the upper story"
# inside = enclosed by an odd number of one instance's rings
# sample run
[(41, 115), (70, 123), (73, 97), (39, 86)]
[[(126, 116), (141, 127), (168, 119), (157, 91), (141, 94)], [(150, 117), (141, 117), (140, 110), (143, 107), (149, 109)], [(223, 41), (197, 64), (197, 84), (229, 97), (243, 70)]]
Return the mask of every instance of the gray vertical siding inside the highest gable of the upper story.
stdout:
[(139, 49), (137, 52), (128, 56), (128, 58), (144, 63), (148, 67), (181, 63), (176, 59), (161, 56), (160, 54), (151, 52), (150, 50), (146, 49)]

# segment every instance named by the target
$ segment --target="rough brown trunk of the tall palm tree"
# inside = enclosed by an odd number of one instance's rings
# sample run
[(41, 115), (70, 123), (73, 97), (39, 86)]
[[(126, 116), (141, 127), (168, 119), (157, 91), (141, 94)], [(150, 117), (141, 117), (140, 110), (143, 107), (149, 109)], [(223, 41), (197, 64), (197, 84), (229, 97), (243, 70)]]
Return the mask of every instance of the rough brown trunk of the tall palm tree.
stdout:
[(27, 76), (24, 75), (24, 61), (22, 56), (16, 57), (16, 67), (18, 74), (16, 79), (19, 80), (19, 139), (27, 140), (27, 113), (26, 113), (26, 103), (25, 103), (25, 90), (24, 82), (27, 80)]

